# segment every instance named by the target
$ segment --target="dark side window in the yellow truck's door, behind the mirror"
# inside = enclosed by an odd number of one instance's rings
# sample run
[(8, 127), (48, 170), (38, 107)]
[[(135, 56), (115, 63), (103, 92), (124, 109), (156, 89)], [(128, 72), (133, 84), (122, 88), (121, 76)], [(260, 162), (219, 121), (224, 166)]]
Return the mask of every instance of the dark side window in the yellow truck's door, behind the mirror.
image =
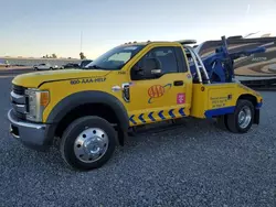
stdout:
[[(158, 61), (158, 65), (160, 65), (161, 75), (170, 74), (170, 73), (179, 73), (177, 56), (174, 47), (171, 46), (162, 46), (162, 47), (155, 47), (149, 51), (131, 69), (131, 79), (153, 79), (158, 78), (158, 76), (151, 76), (150, 72), (147, 72), (145, 68), (145, 61), (148, 58), (155, 58)], [(140, 73), (136, 73), (137, 70)]]

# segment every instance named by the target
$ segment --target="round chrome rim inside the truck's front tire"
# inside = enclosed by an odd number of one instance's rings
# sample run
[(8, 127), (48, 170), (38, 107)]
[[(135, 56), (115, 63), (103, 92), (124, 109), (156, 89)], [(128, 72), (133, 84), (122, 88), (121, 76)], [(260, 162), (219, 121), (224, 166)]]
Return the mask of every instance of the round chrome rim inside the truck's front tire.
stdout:
[(108, 148), (106, 132), (98, 128), (88, 128), (76, 138), (74, 153), (85, 163), (93, 163), (104, 156)]

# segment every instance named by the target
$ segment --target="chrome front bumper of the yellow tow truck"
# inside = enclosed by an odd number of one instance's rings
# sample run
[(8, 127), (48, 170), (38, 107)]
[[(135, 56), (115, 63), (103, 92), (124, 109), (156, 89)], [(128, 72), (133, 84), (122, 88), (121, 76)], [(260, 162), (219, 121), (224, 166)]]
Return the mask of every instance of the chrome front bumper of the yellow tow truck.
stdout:
[(46, 124), (31, 123), (17, 118), (13, 109), (9, 110), (10, 133), (13, 138), (21, 141), (28, 148), (44, 151), (46, 149)]

